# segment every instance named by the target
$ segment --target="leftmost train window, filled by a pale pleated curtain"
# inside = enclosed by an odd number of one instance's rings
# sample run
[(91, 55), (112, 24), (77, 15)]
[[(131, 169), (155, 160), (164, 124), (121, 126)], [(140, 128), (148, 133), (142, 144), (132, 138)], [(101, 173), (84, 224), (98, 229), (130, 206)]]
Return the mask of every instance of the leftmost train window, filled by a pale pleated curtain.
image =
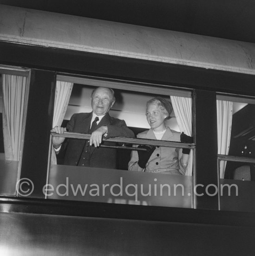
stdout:
[(15, 196), (28, 97), (28, 70), (0, 67), (0, 195)]

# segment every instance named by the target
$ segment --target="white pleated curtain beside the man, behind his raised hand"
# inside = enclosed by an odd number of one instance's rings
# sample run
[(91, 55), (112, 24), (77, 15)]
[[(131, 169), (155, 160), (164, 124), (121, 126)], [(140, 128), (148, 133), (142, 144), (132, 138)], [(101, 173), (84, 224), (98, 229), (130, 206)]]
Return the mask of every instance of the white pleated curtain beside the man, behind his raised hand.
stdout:
[[(72, 89), (73, 83), (57, 81), (52, 127), (61, 126), (64, 120), (64, 115), (68, 106)], [(56, 153), (53, 146), (51, 150), (51, 164), (57, 164)]]

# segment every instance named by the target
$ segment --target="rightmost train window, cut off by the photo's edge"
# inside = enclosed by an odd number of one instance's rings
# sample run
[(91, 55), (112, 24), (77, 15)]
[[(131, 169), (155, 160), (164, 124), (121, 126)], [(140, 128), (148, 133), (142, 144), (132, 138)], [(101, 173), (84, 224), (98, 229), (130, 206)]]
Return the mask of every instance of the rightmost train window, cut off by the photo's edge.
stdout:
[(220, 194), (222, 210), (255, 211), (254, 117), (255, 98), (217, 95), (219, 186), (232, 185)]

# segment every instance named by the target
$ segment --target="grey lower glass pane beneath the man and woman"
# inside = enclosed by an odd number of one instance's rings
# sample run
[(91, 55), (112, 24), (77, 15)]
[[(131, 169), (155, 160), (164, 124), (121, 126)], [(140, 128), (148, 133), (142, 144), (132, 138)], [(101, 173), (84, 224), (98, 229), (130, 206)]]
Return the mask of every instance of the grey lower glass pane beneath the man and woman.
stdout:
[(192, 208), (192, 177), (51, 165), (49, 199)]

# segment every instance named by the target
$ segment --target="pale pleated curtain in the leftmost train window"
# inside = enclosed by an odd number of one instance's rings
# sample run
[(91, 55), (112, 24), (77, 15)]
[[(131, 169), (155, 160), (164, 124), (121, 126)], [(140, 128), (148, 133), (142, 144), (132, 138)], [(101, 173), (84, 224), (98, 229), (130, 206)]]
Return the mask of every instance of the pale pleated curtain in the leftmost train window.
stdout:
[(19, 161), (26, 102), (26, 77), (2, 75), (3, 134), (6, 160)]

